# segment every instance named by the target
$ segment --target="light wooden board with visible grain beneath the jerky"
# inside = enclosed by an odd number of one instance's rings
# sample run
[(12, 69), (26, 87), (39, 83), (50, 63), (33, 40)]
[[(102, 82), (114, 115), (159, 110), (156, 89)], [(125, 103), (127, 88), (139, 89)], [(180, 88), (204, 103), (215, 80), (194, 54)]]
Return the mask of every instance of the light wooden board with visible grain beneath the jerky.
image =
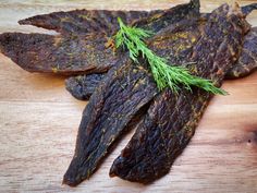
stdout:
[[(17, 20), (72, 9), (164, 9), (173, 0), (1, 0), (0, 33), (44, 32)], [(210, 11), (225, 1), (203, 1)], [(231, 1), (227, 1), (231, 2)], [(256, 0), (240, 1), (241, 4)], [(248, 16), (257, 25), (257, 12)], [(149, 185), (108, 176), (131, 132), (89, 181), (62, 185), (86, 101), (71, 97), (63, 77), (32, 74), (0, 55), (0, 192), (257, 192), (257, 72), (227, 81), (169, 174)]]

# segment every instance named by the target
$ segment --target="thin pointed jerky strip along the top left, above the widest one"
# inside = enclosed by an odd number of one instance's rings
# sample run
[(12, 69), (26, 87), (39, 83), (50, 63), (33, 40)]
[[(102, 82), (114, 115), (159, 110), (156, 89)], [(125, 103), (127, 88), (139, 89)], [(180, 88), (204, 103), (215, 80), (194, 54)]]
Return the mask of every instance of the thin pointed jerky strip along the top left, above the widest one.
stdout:
[(32, 16), (19, 21), (21, 25), (35, 25), (38, 27), (53, 29), (61, 34), (85, 35), (88, 33), (102, 32), (112, 35), (118, 31), (118, 17), (125, 23), (149, 17), (163, 12), (154, 11), (113, 11), (113, 10), (73, 10), (69, 12), (53, 12)]

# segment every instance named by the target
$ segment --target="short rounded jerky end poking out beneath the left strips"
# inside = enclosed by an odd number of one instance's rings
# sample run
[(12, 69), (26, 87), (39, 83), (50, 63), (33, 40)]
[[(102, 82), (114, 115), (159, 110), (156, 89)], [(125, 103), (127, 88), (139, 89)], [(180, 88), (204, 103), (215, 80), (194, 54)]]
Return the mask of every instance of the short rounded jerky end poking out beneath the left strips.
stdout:
[(88, 100), (106, 74), (72, 76), (65, 80), (66, 89), (79, 100)]

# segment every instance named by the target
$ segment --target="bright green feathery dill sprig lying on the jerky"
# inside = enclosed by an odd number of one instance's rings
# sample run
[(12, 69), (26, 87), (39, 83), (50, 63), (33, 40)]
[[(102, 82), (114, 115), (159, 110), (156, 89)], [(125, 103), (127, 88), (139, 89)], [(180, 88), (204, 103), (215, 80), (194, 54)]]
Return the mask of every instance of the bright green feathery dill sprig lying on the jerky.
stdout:
[(189, 71), (184, 67), (169, 65), (166, 58), (157, 56), (147, 48), (144, 39), (152, 35), (150, 31), (126, 26), (120, 17), (118, 17), (118, 22), (120, 31), (114, 36), (115, 47), (126, 47), (130, 52), (130, 58), (136, 63), (138, 63), (137, 58), (139, 55), (146, 58), (159, 91), (170, 87), (171, 91), (178, 93), (180, 84), (182, 84), (189, 91), (192, 91), (192, 86), (197, 86), (212, 94), (228, 94), (225, 91), (216, 87), (210, 80), (189, 74)]

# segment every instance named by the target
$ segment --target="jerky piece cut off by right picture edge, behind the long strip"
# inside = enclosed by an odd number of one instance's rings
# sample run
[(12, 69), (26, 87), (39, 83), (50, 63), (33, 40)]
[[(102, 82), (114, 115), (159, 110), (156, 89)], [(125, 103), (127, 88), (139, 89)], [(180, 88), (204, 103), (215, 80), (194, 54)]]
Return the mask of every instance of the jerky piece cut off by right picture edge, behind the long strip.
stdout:
[(241, 57), (227, 73), (227, 79), (244, 77), (257, 69), (257, 27), (250, 28), (245, 36)]

